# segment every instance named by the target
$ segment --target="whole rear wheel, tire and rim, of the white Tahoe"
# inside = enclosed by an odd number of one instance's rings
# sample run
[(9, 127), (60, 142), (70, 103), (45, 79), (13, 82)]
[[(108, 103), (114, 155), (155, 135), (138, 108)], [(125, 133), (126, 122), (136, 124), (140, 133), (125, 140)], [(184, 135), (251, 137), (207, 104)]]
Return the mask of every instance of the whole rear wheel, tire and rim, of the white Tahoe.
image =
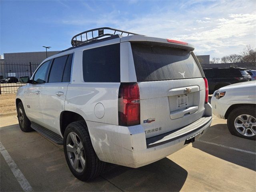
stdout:
[(84, 121), (70, 123), (64, 133), (64, 153), (72, 174), (82, 181), (91, 180), (104, 170), (98, 159)]

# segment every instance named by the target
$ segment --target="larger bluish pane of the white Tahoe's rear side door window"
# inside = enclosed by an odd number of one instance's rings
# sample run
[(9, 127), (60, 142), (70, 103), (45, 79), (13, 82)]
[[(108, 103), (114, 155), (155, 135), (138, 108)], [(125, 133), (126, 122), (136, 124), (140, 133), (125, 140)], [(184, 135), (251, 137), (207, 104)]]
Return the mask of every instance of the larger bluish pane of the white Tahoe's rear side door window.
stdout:
[(66, 65), (68, 55), (55, 58), (50, 70), (49, 83), (62, 82), (62, 75)]

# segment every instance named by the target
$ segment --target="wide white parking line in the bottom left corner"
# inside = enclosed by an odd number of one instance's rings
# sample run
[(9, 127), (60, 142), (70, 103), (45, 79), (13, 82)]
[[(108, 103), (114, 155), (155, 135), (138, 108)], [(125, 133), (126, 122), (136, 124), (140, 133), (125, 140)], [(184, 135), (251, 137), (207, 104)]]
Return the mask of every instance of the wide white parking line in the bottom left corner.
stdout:
[(25, 178), (25, 176), (22, 174), (14, 160), (12, 160), (12, 157), (9, 155), (8, 151), (4, 148), (3, 144), (0, 142), (0, 152), (2, 156), (4, 157), (6, 163), (12, 170), (12, 173), (16, 177), (17, 181), (19, 182), (21, 188), (24, 191), (32, 191), (32, 187), (30, 186), (28, 180)]

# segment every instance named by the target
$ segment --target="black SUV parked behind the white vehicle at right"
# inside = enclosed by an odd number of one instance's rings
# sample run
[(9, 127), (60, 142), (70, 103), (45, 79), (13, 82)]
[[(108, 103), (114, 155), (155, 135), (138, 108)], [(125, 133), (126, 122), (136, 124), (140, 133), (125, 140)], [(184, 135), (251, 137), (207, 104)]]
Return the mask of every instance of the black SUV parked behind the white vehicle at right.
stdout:
[(209, 94), (213, 94), (221, 87), (251, 80), (245, 68), (204, 68), (203, 70), (208, 80)]

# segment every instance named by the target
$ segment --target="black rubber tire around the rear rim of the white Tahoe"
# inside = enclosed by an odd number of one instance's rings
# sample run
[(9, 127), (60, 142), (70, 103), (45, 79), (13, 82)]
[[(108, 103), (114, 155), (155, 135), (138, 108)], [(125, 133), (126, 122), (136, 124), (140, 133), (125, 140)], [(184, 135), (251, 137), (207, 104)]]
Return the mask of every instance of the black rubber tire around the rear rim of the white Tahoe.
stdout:
[[(82, 169), (82, 172), (78, 172), (72, 166), (70, 162), (71, 161), (70, 159), (72, 158), (68, 156), (67, 139), (68, 139), (68, 135), (72, 133), (75, 133), (78, 136), (78, 139), (80, 140), (80, 142), (82, 142), (82, 145), (83, 145), (83, 153), (84, 153), (83, 156), (85, 158), (86, 163), (85, 163), (84, 169)], [(99, 160), (98, 156), (96, 155), (94, 148), (92, 146), (90, 135), (88, 133), (88, 128), (84, 121), (72, 122), (67, 126), (64, 133), (63, 144), (64, 144), (65, 158), (66, 158), (68, 167), (70, 168), (70, 171), (76, 178), (82, 181), (88, 181), (88, 180), (92, 180), (93, 178), (96, 178), (102, 173), (106, 163)], [(81, 165), (81, 162), (80, 162), (80, 165)]]

